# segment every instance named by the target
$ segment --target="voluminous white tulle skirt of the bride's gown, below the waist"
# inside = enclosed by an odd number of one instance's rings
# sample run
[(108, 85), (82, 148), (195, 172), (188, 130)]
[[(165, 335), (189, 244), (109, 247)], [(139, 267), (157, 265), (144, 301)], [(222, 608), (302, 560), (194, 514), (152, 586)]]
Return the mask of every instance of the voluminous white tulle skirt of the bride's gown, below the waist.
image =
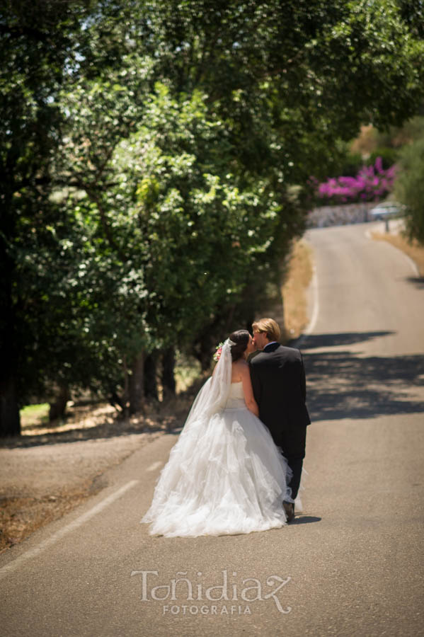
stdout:
[(168, 537), (251, 533), (286, 524), (287, 462), (246, 407), (183, 428), (142, 522)]

